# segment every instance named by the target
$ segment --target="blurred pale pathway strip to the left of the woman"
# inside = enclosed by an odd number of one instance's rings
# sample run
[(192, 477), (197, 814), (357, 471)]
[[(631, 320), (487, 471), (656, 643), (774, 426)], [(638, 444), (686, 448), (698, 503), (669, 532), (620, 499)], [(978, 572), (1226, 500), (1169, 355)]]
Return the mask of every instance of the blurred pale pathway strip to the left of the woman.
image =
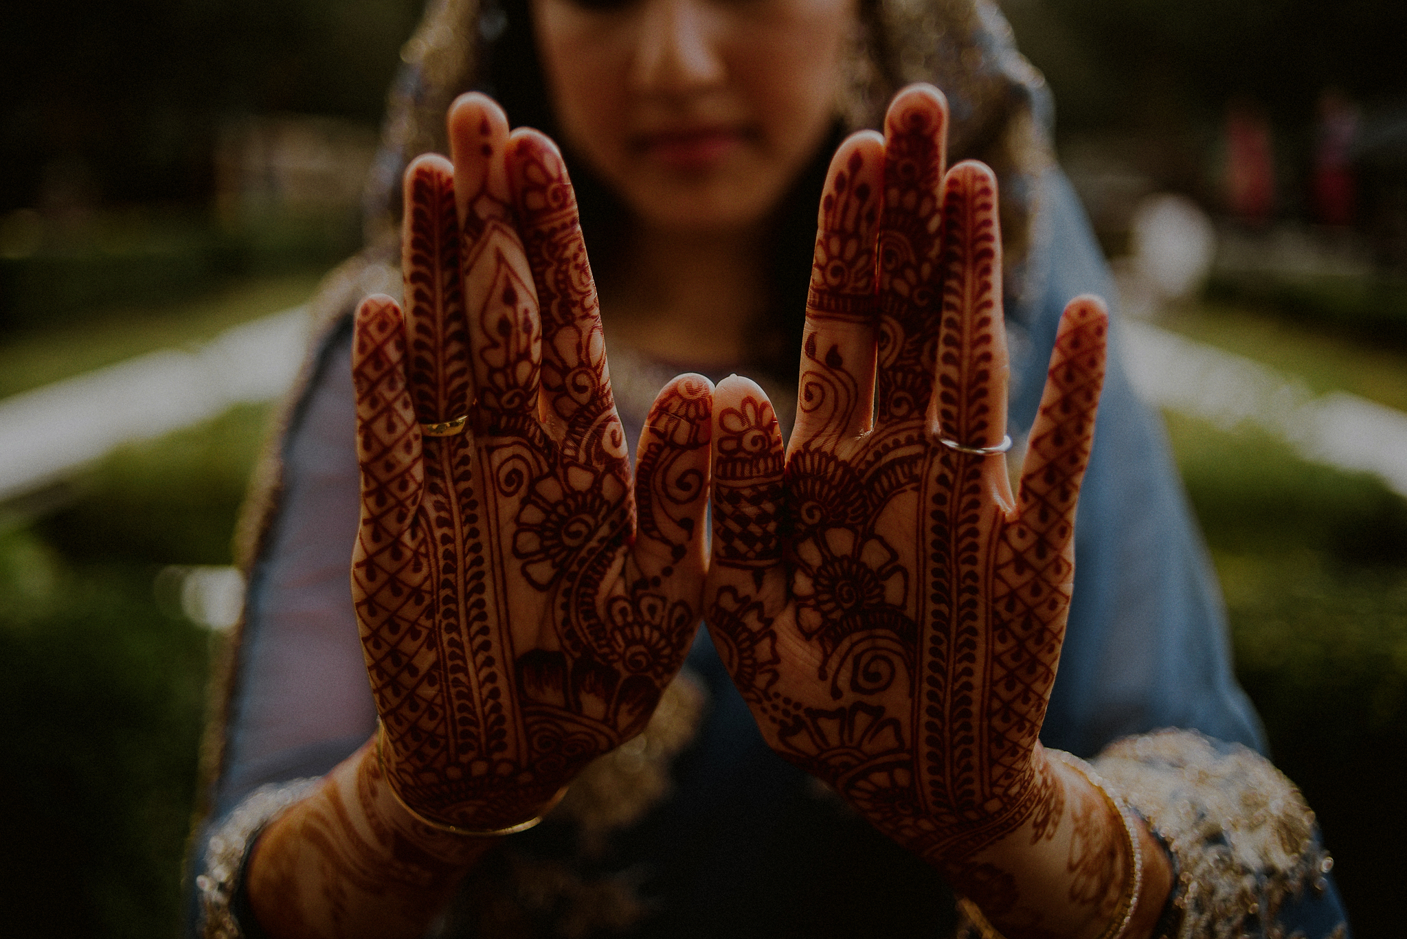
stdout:
[(0, 401), (0, 500), (63, 477), (114, 446), (217, 417), (288, 389), (308, 317), (284, 310), (193, 351), (167, 349)]

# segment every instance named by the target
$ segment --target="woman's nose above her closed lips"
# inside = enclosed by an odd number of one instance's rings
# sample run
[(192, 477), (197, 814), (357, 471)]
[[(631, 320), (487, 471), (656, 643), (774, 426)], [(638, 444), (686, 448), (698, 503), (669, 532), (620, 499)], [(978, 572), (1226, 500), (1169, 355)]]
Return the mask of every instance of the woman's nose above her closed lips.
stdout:
[(632, 83), (637, 92), (688, 94), (722, 83), (720, 24), (709, 0), (646, 0)]

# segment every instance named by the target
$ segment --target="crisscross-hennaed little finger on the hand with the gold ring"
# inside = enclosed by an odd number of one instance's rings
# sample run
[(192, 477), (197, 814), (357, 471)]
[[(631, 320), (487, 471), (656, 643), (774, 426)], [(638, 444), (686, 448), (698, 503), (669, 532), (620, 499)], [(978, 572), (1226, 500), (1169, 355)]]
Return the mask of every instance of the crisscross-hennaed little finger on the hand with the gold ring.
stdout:
[(405, 382), (405, 327), (387, 296), (367, 297), (357, 308), (352, 383), (362, 467), (357, 539), (363, 556), (374, 559), (409, 527), (424, 483), (421, 432)]

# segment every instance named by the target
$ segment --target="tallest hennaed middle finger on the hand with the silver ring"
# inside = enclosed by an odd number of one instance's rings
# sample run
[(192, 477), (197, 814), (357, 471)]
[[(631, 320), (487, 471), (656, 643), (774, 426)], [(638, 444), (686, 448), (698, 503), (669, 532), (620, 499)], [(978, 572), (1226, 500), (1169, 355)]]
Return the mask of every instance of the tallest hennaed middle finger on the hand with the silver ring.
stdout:
[(879, 424), (923, 417), (937, 360), (943, 173), (948, 104), (931, 84), (900, 92), (885, 117), (879, 222)]

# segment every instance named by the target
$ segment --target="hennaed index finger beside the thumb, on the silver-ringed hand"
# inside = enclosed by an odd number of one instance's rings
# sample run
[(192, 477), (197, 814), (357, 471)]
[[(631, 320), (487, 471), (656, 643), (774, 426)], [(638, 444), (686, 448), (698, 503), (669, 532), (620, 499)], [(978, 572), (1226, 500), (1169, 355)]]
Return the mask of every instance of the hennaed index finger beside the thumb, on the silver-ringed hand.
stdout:
[(874, 131), (853, 134), (830, 162), (820, 201), (792, 450), (833, 446), (870, 429), (882, 183), (884, 139)]

